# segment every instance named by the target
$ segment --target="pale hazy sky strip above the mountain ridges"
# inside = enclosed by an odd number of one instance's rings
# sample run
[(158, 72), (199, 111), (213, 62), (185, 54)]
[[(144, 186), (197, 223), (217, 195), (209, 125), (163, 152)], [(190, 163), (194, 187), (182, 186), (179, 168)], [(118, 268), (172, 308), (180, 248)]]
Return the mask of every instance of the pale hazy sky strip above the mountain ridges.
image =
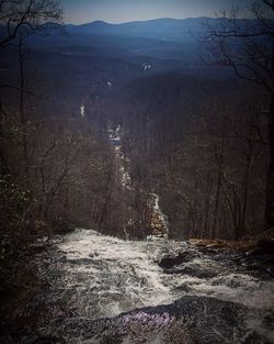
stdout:
[(249, 0), (62, 0), (67, 23), (103, 20), (112, 23), (156, 18), (213, 16), (231, 4)]

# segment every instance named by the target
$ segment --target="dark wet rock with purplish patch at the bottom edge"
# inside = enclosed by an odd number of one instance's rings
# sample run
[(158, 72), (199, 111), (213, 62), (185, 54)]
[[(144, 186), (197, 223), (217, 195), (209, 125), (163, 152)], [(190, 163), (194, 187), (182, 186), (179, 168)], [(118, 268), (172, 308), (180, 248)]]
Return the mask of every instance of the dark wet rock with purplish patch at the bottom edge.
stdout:
[(248, 307), (236, 302), (186, 296), (171, 304), (85, 323), (85, 329), (80, 322), (70, 328), (79, 324), (87, 343), (96, 344), (224, 344), (231, 339), (233, 343), (269, 344), (267, 339), (247, 326), (247, 320), (255, 315), (256, 311), (251, 313)]

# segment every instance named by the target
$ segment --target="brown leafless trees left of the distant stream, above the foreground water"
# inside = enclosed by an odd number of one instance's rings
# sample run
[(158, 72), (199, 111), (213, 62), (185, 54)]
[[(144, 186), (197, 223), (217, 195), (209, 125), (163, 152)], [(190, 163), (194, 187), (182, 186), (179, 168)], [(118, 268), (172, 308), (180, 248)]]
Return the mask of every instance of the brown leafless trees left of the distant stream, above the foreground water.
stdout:
[(21, 242), (75, 228), (115, 233), (117, 168), (98, 119), (88, 110), (70, 114), (69, 100), (62, 113), (43, 116), (35, 104), (25, 108), (24, 125), (18, 111), (1, 108), (1, 235)]

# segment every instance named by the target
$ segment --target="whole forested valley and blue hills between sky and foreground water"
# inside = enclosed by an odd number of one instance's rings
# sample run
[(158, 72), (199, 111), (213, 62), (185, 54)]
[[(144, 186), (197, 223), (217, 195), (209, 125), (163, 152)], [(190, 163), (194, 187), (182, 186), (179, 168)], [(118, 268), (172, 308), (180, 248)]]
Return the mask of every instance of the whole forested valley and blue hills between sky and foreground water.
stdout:
[[(203, 64), (195, 35), (204, 21), (57, 26), (49, 36), (27, 35), (19, 51), (2, 48), (5, 230), (16, 215), (27, 234), (38, 222), (48, 232), (88, 226), (121, 235), (114, 218), (138, 218), (134, 199), (157, 192), (171, 236), (263, 231), (267, 96)], [(126, 196), (116, 190), (106, 134), (117, 125), (136, 184)], [(135, 221), (134, 235), (149, 233), (149, 219)]]

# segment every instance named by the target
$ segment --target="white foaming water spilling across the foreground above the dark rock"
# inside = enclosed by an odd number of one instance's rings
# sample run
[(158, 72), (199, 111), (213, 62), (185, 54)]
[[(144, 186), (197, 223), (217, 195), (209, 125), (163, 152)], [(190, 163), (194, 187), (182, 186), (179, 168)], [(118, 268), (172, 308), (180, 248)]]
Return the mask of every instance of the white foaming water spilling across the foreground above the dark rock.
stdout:
[[(171, 303), (185, 295), (236, 301), (262, 311), (274, 307), (273, 281), (231, 273), (222, 263), (198, 254), (183, 263), (191, 275), (164, 274), (157, 262), (167, 254), (176, 255), (182, 247), (193, 253), (175, 241), (123, 241), (78, 230), (58, 244), (60, 257), (66, 259), (57, 265), (62, 276), (57, 297), (69, 298), (78, 314), (91, 319)], [(195, 276), (203, 269), (217, 277)]]

